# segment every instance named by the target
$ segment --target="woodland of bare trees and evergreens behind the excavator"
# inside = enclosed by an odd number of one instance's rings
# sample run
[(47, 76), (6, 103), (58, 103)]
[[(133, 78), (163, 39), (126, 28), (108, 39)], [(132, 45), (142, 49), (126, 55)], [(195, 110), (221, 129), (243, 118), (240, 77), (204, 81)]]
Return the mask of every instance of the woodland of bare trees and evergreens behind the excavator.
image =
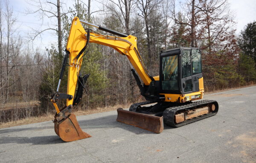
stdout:
[[(49, 99), (58, 85), (75, 16), (137, 37), (138, 50), (151, 76), (159, 75), (159, 53), (163, 47), (198, 47), (202, 51), (206, 91), (256, 82), (256, 21), (244, 24), (237, 36), (228, 0), (74, 0), (67, 9), (61, 0), (28, 3), (23, 14), (35, 15), (42, 24), (46, 18), (51, 23), (47, 22), (46, 28), (31, 25), (23, 39), (17, 32), (12, 4), (8, 0), (0, 2), (0, 123), (53, 114)], [(91, 11), (92, 3), (102, 8)], [(33, 41), (45, 32), (57, 37), (58, 43), (44, 50), (34, 48)], [(90, 77), (76, 109), (93, 110), (145, 100), (140, 96), (128, 59), (112, 48), (90, 44), (81, 72), (90, 73)], [(66, 92), (66, 88), (67, 73), (60, 92)]]

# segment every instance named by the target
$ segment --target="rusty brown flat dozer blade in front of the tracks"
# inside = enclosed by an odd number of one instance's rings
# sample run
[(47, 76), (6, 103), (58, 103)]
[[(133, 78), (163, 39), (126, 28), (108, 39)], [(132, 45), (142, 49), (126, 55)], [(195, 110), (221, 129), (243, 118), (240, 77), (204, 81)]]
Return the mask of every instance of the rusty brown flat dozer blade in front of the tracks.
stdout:
[(163, 116), (157, 117), (154, 115), (131, 112), (120, 108), (117, 109), (116, 121), (155, 133), (160, 133), (163, 131)]

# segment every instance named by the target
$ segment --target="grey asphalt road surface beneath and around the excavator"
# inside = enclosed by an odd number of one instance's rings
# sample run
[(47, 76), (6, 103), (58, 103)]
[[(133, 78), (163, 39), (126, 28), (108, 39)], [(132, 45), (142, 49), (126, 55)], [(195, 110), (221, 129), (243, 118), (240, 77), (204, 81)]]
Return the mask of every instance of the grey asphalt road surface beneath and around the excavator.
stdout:
[(92, 137), (70, 143), (52, 121), (0, 129), (0, 162), (256, 163), (256, 86), (204, 99), (218, 101), (217, 115), (160, 134), (117, 122), (116, 111), (79, 116)]

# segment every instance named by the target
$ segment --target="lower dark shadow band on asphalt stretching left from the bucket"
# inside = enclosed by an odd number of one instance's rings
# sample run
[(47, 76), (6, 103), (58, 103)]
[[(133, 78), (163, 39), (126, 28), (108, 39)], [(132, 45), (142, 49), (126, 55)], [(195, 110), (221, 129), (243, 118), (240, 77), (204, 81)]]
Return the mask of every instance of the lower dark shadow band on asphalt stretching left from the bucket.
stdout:
[(58, 135), (54, 136), (35, 136), (35, 137), (11, 137), (11, 136), (1, 136), (0, 144), (7, 143), (19, 143), (19, 144), (27, 144), (32, 143), (33, 145), (42, 145), (42, 144), (58, 144), (63, 143)]

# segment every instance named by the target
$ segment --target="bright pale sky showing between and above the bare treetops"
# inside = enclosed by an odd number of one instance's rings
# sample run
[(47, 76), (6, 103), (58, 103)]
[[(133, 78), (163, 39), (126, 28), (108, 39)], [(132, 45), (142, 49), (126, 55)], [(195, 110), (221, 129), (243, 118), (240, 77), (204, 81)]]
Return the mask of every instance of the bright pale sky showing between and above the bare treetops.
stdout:
[[(4, 2), (4, 0), (1, 0)], [(55, 2), (55, 0), (48, 0)], [(64, 10), (72, 7), (75, 0), (61, 0), (63, 2)], [(87, 3), (87, 0), (83, 0)], [(99, 10), (101, 8), (100, 3), (97, 3), (96, 0), (91, 0), (91, 9), (92, 11)], [(26, 8), (31, 8), (27, 3), (31, 0), (9, 0), (10, 6), (13, 7), (14, 15), (17, 17), (15, 31), (19, 34), (23, 40), (26, 40), (28, 33), (32, 31), (32, 28), (47, 28), (47, 22), (42, 21), (35, 14), (24, 14)], [(234, 20), (236, 24), (236, 34), (239, 35), (240, 31), (244, 29), (244, 26), (249, 23), (256, 21), (256, 0), (228, 0), (230, 3), (230, 9), (234, 11)], [(96, 13), (97, 14), (97, 13)], [(94, 16), (96, 16), (94, 14)], [(57, 35), (54, 31), (46, 31), (42, 35), (33, 41), (33, 47), (45, 50), (45, 47), (49, 48), (52, 43), (57, 42)]]

